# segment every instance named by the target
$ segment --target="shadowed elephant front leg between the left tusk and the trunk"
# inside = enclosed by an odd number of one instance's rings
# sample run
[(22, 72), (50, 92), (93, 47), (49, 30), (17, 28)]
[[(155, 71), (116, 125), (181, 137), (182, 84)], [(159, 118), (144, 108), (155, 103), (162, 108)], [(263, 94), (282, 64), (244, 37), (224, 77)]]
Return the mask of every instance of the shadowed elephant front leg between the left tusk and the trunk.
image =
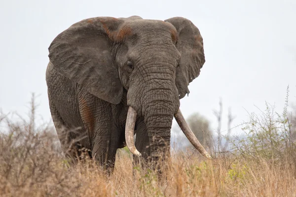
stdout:
[[(137, 121), (136, 125), (136, 142), (135, 146), (137, 150), (142, 154), (142, 158), (144, 164), (148, 164), (148, 159), (150, 157), (150, 144), (149, 144), (149, 137), (146, 124), (144, 122), (144, 118), (140, 118)], [(139, 158), (137, 156), (133, 156), (133, 165), (139, 164)]]

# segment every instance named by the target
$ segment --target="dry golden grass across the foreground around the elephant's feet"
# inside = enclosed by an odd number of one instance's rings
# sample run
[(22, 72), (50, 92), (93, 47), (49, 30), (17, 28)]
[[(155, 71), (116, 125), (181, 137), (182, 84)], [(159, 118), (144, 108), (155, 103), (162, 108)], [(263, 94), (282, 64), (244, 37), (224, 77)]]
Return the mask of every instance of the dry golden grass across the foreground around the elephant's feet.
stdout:
[(1, 136), (0, 196), (296, 196), (295, 163), (288, 160), (270, 164), (225, 156), (211, 163), (179, 153), (172, 157), (167, 179), (158, 180), (140, 168), (133, 175), (131, 155), (120, 151), (109, 177), (92, 162), (68, 167), (46, 143), (48, 135), (25, 137), (12, 148), (15, 138)]

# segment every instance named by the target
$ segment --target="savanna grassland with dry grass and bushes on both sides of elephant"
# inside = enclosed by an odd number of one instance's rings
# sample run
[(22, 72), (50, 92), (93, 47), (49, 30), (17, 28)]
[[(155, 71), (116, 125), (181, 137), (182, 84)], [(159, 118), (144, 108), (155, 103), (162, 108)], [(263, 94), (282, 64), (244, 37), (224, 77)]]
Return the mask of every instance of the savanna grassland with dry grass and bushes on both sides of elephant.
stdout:
[(295, 129), (287, 105), (277, 113), (266, 103), (261, 114), (249, 114), (245, 136), (228, 137), (227, 150), (212, 147), (213, 161), (173, 150), (162, 179), (149, 168), (133, 169), (126, 149), (118, 150), (111, 176), (93, 161), (71, 166), (52, 125), (36, 125), (34, 105), (29, 120), (10, 117), (0, 115), (1, 197), (296, 196)]

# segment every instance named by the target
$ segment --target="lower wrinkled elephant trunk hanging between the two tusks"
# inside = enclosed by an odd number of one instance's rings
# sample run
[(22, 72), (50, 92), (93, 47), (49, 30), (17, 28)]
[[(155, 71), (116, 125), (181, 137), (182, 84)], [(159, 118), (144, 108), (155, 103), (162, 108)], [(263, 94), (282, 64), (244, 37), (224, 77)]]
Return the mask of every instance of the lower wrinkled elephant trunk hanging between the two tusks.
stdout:
[(143, 110), (149, 137), (150, 159), (165, 160), (170, 157), (172, 121), (180, 102), (177, 92), (170, 89), (151, 89), (146, 95)]

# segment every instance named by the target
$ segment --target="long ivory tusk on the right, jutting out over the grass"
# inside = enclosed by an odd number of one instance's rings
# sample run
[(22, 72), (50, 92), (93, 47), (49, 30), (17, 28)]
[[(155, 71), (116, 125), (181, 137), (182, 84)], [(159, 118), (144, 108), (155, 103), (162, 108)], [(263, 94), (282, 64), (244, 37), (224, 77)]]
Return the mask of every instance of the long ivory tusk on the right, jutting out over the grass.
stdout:
[(207, 159), (212, 159), (210, 154), (206, 151), (206, 149), (200, 144), (198, 139), (195, 137), (189, 126), (187, 125), (181, 110), (179, 109), (178, 112), (175, 114), (175, 119), (180, 126), (181, 130), (184, 132), (185, 136), (188, 138), (190, 143)]

